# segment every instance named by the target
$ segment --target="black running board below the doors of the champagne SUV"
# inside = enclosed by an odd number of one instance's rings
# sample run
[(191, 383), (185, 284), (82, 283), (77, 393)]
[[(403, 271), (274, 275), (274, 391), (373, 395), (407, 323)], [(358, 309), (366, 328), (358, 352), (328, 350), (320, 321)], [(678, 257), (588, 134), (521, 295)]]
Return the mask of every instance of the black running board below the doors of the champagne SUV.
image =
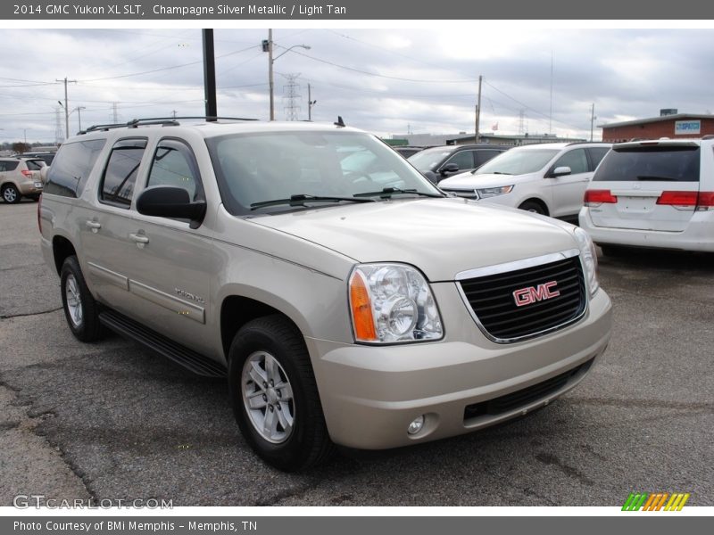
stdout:
[(137, 321), (123, 316), (114, 310), (104, 309), (99, 313), (99, 321), (131, 340), (145, 345), (166, 358), (170, 358), (187, 370), (203, 377), (225, 377), (227, 372), (224, 366), (211, 358), (204, 357), (194, 350), (189, 350), (178, 342), (174, 342), (156, 333), (152, 329), (141, 325)]

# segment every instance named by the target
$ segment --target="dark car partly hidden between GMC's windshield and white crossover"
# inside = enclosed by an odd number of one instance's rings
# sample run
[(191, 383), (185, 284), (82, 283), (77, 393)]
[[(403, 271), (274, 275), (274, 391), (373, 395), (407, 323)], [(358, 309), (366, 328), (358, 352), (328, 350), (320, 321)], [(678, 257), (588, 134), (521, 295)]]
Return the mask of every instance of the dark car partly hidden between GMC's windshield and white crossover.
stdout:
[(436, 184), (446, 177), (476, 169), (510, 148), (493, 144), (444, 145), (419, 151), (407, 160)]

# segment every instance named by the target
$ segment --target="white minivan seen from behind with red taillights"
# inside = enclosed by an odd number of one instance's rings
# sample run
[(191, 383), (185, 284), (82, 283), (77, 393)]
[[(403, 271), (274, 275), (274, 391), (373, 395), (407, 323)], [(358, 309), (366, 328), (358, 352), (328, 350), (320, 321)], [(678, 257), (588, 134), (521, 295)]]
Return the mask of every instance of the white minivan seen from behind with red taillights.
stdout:
[(714, 139), (614, 145), (585, 191), (580, 226), (605, 254), (714, 251)]

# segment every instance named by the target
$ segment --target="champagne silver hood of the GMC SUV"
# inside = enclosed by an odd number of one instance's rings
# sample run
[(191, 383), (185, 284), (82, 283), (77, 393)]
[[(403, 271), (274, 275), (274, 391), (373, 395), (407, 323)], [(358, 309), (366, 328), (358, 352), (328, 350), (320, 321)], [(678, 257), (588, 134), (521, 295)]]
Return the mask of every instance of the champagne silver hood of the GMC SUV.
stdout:
[[(568, 225), (466, 199), (403, 199), (253, 218), (359, 262), (403, 262), (434, 281), (577, 248)], [(311, 256), (310, 248), (303, 254)]]

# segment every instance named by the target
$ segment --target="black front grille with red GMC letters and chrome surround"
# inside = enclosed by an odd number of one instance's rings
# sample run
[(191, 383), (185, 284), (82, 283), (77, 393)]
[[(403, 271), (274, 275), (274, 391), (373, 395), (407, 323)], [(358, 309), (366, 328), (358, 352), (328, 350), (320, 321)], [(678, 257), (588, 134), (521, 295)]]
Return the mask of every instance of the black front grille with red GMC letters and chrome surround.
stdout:
[[(544, 296), (544, 284), (553, 281), (556, 284), (549, 287), (560, 295)], [(496, 342), (515, 342), (558, 329), (585, 312), (585, 278), (577, 256), (460, 284), (478, 324)], [(533, 302), (517, 306), (517, 291)]]

